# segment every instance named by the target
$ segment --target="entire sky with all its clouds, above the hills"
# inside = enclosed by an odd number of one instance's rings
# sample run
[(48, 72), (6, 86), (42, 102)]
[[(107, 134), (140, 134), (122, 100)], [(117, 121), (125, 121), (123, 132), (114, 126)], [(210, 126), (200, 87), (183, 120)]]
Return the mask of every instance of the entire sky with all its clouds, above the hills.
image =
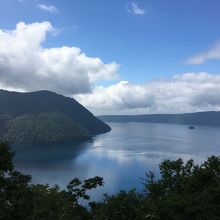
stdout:
[(219, 0), (0, 0), (0, 89), (96, 115), (220, 110)]

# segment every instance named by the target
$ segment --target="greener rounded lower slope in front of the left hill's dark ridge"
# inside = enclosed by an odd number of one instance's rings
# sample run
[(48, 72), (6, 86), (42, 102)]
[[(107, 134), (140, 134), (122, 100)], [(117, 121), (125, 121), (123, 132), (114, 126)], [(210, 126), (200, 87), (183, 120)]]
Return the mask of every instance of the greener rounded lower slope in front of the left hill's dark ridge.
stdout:
[(9, 143), (79, 141), (88, 131), (60, 112), (25, 114), (8, 120), (0, 140)]

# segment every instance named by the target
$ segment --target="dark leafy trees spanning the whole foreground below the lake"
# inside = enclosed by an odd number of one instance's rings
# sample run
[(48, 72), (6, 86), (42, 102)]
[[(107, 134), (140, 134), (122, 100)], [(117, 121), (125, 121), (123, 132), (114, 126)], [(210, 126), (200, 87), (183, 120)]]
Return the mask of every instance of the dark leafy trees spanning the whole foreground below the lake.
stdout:
[[(14, 220), (217, 220), (220, 219), (220, 157), (201, 165), (165, 160), (160, 179), (146, 173), (143, 192), (135, 189), (90, 201), (88, 191), (103, 185), (101, 177), (74, 178), (65, 190), (31, 184), (31, 177), (14, 169), (13, 152), (0, 144), (0, 219)], [(87, 209), (81, 199), (90, 202)]]

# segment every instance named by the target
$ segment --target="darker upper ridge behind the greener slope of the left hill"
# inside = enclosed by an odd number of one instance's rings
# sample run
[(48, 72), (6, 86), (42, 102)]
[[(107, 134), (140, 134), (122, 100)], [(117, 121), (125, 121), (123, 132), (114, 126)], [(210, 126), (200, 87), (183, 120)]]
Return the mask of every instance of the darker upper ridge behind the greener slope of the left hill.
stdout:
[(76, 100), (49, 91), (18, 93), (0, 90), (0, 114), (13, 117), (41, 112), (61, 112), (91, 134), (110, 131), (110, 127)]

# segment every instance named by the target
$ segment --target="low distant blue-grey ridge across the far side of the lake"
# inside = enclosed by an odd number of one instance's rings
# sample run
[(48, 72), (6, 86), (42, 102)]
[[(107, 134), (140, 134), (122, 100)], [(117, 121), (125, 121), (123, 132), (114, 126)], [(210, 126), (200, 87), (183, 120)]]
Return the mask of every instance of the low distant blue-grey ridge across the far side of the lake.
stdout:
[(98, 118), (105, 122), (148, 122), (220, 126), (220, 112), (214, 111), (185, 114), (102, 115), (98, 116)]

